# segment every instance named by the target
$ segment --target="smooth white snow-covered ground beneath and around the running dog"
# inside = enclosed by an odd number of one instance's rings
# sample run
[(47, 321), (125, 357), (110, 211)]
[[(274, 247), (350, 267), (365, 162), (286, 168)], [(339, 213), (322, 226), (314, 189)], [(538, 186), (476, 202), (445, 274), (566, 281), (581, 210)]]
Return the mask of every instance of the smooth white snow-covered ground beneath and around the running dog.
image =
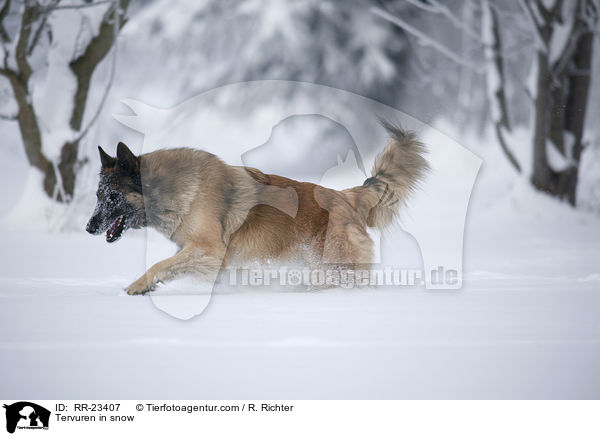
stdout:
[[(467, 217), (461, 290), (221, 286), (202, 315), (182, 321), (122, 290), (146, 266), (144, 232), (108, 245), (85, 234), (83, 222), (68, 232), (3, 225), (0, 392), (600, 397), (600, 220), (533, 192), (496, 147), (476, 151), (484, 165)], [(22, 186), (23, 168), (2, 168), (3, 192)], [(402, 232), (382, 242), (383, 257), (405, 249), (415, 242)]]

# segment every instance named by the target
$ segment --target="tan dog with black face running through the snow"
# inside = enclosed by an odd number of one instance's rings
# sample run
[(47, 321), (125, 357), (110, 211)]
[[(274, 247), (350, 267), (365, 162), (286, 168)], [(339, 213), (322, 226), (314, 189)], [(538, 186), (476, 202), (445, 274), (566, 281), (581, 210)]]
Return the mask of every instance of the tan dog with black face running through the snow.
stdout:
[(189, 148), (117, 156), (99, 148), (98, 202), (86, 230), (114, 242), (150, 226), (179, 247), (128, 288), (142, 294), (182, 275), (214, 277), (248, 261), (302, 261), (311, 267), (369, 264), (367, 226), (390, 224), (428, 165), (414, 133), (385, 124), (389, 143), (362, 186), (342, 191), (254, 168), (230, 166)]

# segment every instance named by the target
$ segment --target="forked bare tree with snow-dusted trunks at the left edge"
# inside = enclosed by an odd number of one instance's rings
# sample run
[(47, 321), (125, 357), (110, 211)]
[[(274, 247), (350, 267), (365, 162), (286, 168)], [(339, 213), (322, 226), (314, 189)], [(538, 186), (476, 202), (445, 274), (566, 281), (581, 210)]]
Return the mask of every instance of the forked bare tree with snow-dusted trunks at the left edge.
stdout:
[(0, 6), (0, 86), (12, 97), (1, 116), (18, 123), (29, 164), (57, 201), (73, 198), (79, 145), (105, 99), (86, 112), (90, 84), (115, 44), (128, 4), (4, 0)]

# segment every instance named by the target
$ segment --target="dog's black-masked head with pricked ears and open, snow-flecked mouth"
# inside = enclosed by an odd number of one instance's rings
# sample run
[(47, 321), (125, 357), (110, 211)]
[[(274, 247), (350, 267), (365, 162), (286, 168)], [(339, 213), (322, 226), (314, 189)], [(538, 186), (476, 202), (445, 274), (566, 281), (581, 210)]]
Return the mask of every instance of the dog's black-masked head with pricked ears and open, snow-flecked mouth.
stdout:
[(106, 241), (115, 242), (125, 230), (146, 225), (140, 158), (122, 142), (117, 145), (116, 158), (102, 147), (98, 150), (102, 163), (98, 201), (86, 230), (93, 235), (106, 232)]

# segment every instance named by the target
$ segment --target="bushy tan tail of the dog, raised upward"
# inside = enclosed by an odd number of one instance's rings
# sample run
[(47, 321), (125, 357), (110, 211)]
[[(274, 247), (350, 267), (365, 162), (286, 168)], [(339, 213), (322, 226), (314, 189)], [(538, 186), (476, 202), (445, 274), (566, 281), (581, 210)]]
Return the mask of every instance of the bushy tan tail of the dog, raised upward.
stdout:
[(367, 225), (383, 229), (398, 214), (400, 207), (419, 186), (429, 170), (423, 157), (425, 146), (414, 132), (382, 121), (391, 139), (375, 159), (372, 176), (364, 187), (375, 190), (379, 201), (369, 211)]

